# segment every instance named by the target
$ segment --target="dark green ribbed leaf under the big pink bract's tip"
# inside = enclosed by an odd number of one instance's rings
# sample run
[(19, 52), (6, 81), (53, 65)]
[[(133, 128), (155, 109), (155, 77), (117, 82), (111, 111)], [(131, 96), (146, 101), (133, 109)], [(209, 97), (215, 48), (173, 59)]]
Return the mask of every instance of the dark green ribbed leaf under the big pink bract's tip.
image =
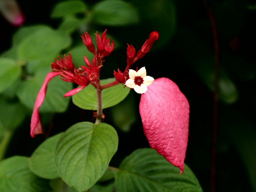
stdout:
[(118, 168), (116, 191), (202, 192), (196, 176), (187, 165), (181, 175), (179, 171), (154, 149), (138, 149), (127, 156)]

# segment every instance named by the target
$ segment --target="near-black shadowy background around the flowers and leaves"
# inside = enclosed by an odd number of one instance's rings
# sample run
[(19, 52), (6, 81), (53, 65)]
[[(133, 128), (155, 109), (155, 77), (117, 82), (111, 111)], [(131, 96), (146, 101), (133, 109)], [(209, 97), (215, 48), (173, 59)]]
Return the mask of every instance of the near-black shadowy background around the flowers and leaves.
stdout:
[[(57, 2), (59, 1), (18, 1), (26, 17), (24, 26), (47, 24), (57, 28), (60, 20), (50, 18), (52, 8)], [(88, 0), (85, 2), (90, 7), (98, 1)], [(161, 2), (163, 1), (159, 1), (159, 3)], [(105, 71), (102, 70), (101, 79), (113, 77), (112, 72), (118, 67), (124, 70), (127, 43), (139, 50), (150, 32), (159, 31), (160, 39), (155, 43), (155, 48), (152, 48), (132, 68), (146, 66), (147, 74), (155, 79), (159, 77), (171, 79), (188, 99), (190, 122), (185, 163), (195, 173), (203, 190), (210, 191), (213, 92), (208, 89), (198, 75), (198, 71), (193, 67), (194, 58), (205, 57), (204, 52), (195, 52), (197, 47), (204, 49), (205, 46), (205, 49), (209, 49), (212, 55), (214, 54), (212, 28), (206, 8), (201, 0), (174, 1), (176, 24), (175, 29), (170, 30), (168, 24), (165, 25), (168, 20), (165, 20), (164, 17), (154, 20), (154, 12), (152, 12), (152, 18), (150, 14), (145, 14), (147, 1), (131, 1), (131, 3), (139, 10), (141, 16), (139, 24), (124, 27), (95, 24), (91, 26), (91, 30), (95, 29), (95, 31), (103, 31), (108, 28), (108, 33), (118, 39), (121, 45), (111, 56), (106, 58), (104, 65), (108, 67), (104, 69)], [(256, 151), (256, 138), (253, 137), (256, 106), (256, 11), (248, 8), (248, 5), (254, 3), (256, 2), (244, 0), (207, 1), (217, 24), (220, 66), (226, 70), (238, 90), (238, 98), (235, 102), (227, 104), (219, 101), (216, 147), (217, 191), (255, 191), (253, 188), (255, 180), (250, 173), (254, 171), (256, 173), (256, 162), (254, 161), (256, 154), (253, 153)], [(162, 23), (157, 23), (159, 21)], [(0, 24), (0, 52), (3, 52), (11, 47), (12, 36), (18, 28), (6, 22), (3, 17), (0, 17)], [(77, 32), (73, 33), (72, 37), (74, 44), (80, 40), (80, 34)], [(214, 58), (210, 59), (214, 60)], [(119, 147), (110, 162), (110, 165), (115, 167), (118, 167), (122, 159), (135, 149), (149, 147), (139, 115), (140, 95), (134, 94), (133, 91), (130, 94), (132, 96), (129, 95), (129, 97), (136, 99), (137, 107), (134, 113), (137, 118), (130, 132), (124, 133), (117, 130)], [(105, 122), (113, 124), (110, 110), (104, 109), (103, 113), (106, 116)], [(92, 116), (91, 111), (81, 110), (71, 102), (68, 111), (64, 114), (51, 116), (52, 120), (49, 125), (53, 127), (51, 135), (64, 131), (79, 121), (91, 121)], [(30, 138), (29, 124), (30, 117), (27, 117), (20, 129), (16, 131), (5, 157), (30, 156), (45, 139), (43, 135), (39, 135), (35, 139)], [(247, 140), (251, 141), (250, 145), (245, 143)], [(247, 151), (248, 154), (245, 155), (245, 152), (241, 153), (241, 151)]]

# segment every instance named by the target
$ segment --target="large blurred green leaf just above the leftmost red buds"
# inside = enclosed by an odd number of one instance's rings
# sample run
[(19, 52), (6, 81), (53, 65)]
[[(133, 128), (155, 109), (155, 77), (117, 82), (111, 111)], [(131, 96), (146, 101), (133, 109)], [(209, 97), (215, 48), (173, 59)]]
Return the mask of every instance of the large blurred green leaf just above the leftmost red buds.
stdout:
[(27, 60), (28, 72), (34, 73), (39, 67), (50, 66), (54, 57), (57, 57), (70, 43), (71, 39), (67, 33), (45, 27), (20, 42), (18, 57)]

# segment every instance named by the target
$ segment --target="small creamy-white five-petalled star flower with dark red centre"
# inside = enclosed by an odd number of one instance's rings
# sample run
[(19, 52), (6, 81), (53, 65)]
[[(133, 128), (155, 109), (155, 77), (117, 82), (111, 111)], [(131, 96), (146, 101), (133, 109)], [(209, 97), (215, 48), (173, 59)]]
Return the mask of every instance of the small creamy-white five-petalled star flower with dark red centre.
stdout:
[(142, 67), (138, 72), (129, 69), (129, 77), (124, 85), (134, 89), (137, 93), (145, 93), (147, 91), (147, 86), (151, 85), (154, 81), (153, 77), (146, 76), (146, 69)]

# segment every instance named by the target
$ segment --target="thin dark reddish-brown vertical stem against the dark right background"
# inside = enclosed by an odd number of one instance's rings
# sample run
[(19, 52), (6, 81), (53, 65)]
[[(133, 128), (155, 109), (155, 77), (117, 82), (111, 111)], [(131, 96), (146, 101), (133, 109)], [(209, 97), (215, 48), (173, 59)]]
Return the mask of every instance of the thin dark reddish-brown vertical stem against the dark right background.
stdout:
[(214, 43), (215, 52), (215, 81), (214, 81), (214, 94), (213, 94), (213, 123), (212, 123), (212, 164), (210, 170), (210, 187), (212, 192), (216, 192), (216, 164), (217, 164), (217, 153), (216, 153), (216, 143), (217, 143), (217, 127), (218, 127), (218, 91), (219, 91), (219, 40), (215, 19), (211, 13), (211, 10), (206, 2), (202, 0), (206, 8), (208, 17), (211, 22), (212, 27), (212, 37)]

